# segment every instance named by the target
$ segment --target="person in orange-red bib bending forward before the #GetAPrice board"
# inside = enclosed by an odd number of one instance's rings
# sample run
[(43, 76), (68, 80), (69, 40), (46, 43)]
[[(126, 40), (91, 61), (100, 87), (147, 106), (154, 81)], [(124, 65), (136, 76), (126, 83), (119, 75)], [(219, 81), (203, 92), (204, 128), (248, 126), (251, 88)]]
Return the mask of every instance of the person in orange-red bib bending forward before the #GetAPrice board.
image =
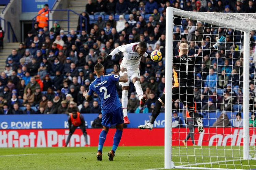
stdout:
[(80, 127), (81, 131), (83, 132), (84, 139), (85, 139), (85, 146), (88, 147), (87, 132), (85, 129), (85, 121), (84, 121), (83, 115), (81, 115), (79, 112), (72, 112), (68, 117), (68, 122), (69, 122), (69, 136), (68, 136), (67, 141), (63, 147), (68, 146), (70, 138), (78, 126)]

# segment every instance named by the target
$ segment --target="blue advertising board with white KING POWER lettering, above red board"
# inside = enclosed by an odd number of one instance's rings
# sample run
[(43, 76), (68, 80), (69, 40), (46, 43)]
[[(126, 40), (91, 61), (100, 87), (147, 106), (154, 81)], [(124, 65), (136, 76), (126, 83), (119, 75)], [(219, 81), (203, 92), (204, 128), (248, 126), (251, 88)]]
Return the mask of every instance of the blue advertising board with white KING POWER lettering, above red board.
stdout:
[[(237, 112), (227, 112), (231, 125), (236, 119)], [(82, 114), (85, 118), (86, 128), (91, 128), (94, 119), (98, 114)], [(221, 112), (203, 113), (204, 127), (212, 126), (216, 118), (221, 115)], [(145, 124), (150, 120), (151, 114), (128, 114), (130, 124), (127, 128), (138, 128), (139, 125)], [(182, 113), (178, 116), (181, 118), (185, 126), (184, 117)], [(242, 113), (243, 117), (243, 113)], [(165, 115), (160, 113), (157, 117), (154, 128), (165, 127)], [(65, 114), (51, 114), (51, 115), (0, 115), (0, 129), (65, 129), (68, 128), (68, 116)]]

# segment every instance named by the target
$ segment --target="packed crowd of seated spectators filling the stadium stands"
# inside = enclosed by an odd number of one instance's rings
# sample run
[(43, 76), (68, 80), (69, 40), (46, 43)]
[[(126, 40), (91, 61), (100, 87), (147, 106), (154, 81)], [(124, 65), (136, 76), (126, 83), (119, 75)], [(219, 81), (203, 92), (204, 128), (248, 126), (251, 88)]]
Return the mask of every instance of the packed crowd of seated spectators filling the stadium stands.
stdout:
[[(140, 83), (147, 103), (139, 100), (130, 84), (128, 113), (150, 113), (165, 90), (165, 19), (166, 7), (186, 11), (242, 13), (255, 12), (253, 0), (88, 0), (78, 19), (77, 30), (68, 34), (57, 21), (53, 27), (34, 28), (24, 43), (13, 49), (0, 76), (0, 114), (61, 114), (72, 111), (100, 113), (100, 100), (85, 101), (83, 91), (95, 79), (94, 65), (101, 63), (105, 72), (119, 74), (123, 54), (104, 60), (114, 48), (138, 41), (147, 43), (147, 53), (159, 50), (160, 62), (141, 58)], [(94, 18), (93, 20), (91, 18)], [(95, 20), (95, 18), (97, 18)], [(211, 46), (216, 36), (226, 35), (226, 45), (205, 56), (195, 68), (195, 102), (200, 112), (242, 111), (243, 104), (243, 35), (230, 28), (182, 19), (174, 19), (174, 55), (180, 43), (189, 44), (189, 55)], [(82, 28), (82, 30), (80, 29)], [(250, 44), (250, 104), (255, 110), (255, 32)], [(122, 89), (117, 85), (121, 98)], [(173, 108), (182, 112), (176, 101)]]

